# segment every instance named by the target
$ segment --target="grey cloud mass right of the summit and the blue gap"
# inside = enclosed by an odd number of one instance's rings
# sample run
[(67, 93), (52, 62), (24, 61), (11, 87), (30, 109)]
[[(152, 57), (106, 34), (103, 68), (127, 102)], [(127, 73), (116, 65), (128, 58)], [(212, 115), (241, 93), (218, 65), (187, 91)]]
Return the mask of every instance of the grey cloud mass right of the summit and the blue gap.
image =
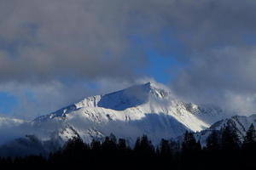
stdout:
[(255, 49), (225, 47), (196, 56), (172, 88), (196, 103), (213, 103), (240, 114), (252, 114), (256, 111)]

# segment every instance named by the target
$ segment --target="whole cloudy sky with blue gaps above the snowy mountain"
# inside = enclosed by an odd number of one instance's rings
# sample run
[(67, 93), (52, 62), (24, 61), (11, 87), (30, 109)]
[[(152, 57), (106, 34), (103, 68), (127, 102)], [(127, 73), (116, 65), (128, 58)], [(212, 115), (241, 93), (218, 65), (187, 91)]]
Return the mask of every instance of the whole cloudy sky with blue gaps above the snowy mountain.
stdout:
[(256, 112), (253, 0), (0, 0), (0, 114), (32, 119), (154, 80)]

